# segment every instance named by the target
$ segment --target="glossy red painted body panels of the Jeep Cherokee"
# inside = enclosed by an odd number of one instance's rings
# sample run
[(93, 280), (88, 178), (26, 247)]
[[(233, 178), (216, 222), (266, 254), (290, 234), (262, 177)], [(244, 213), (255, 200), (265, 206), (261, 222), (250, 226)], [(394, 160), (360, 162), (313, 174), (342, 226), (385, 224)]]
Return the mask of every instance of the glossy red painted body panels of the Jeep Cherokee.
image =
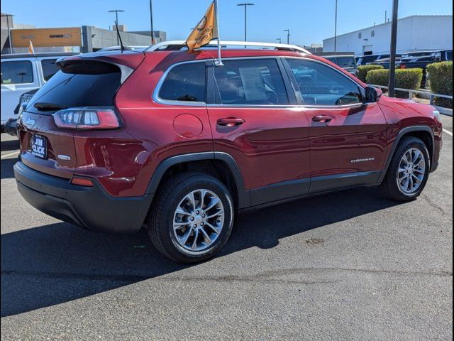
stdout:
[[(314, 55), (270, 50), (225, 50), (223, 58), (293, 57), (337, 65)], [(204, 107), (159, 104), (153, 92), (165, 70), (187, 60), (211, 60), (216, 52), (109, 53), (90, 57), (133, 67), (121, 85), (115, 107), (121, 129), (65, 131), (52, 116), (23, 112), (18, 134), (26, 166), (60, 178), (82, 175), (96, 179), (116, 197), (144, 195), (157, 166), (166, 158), (187, 153), (223, 151), (235, 159), (246, 190), (300, 178), (381, 171), (394, 139), (406, 126), (430, 126), (435, 136), (433, 162), (441, 148), (441, 123), (433, 107), (403, 99), (381, 97), (377, 103), (354, 108)], [(81, 57), (72, 57), (81, 58)], [(84, 58), (82, 56), (82, 58)], [(365, 86), (359, 80), (355, 82)], [(328, 115), (331, 121), (314, 121)], [(244, 119), (240, 126), (219, 126), (218, 119)], [(32, 126), (27, 120), (35, 120)], [(48, 159), (32, 156), (31, 134), (48, 139)], [(70, 161), (57, 158), (70, 156)], [(352, 163), (373, 158), (372, 162)]]

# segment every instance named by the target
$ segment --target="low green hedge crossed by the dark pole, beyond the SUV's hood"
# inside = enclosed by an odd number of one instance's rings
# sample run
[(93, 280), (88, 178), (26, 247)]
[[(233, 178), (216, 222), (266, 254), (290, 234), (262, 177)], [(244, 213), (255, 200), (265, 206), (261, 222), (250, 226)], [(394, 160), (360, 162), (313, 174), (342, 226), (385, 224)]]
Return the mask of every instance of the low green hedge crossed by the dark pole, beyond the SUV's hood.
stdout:
[[(423, 79), (422, 69), (397, 69), (396, 87), (409, 90), (419, 90)], [(367, 72), (367, 84), (388, 86), (389, 70), (371, 70)], [(396, 91), (396, 97), (408, 98), (408, 92)]]

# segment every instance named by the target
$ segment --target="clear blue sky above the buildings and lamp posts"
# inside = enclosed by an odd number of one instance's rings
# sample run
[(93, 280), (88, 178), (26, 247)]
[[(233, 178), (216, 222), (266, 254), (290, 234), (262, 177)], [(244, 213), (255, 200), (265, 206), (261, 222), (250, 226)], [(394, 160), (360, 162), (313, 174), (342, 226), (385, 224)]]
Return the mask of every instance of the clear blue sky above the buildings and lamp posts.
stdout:
[[(243, 0), (218, 0), (221, 38), (243, 40)], [(333, 36), (335, 0), (248, 0), (248, 40), (276, 41), (309, 45)], [(114, 14), (109, 9), (123, 9), (119, 22), (128, 31), (150, 28), (148, 0), (1, 0), (1, 11), (12, 13), (18, 23), (37, 27), (92, 25), (109, 28)], [(153, 0), (155, 30), (167, 31), (168, 39), (185, 39), (190, 28), (203, 16), (211, 0)], [(384, 22), (384, 11), (391, 15), (392, 0), (338, 0), (338, 33)], [(451, 0), (400, 0), (399, 18), (414, 14), (453, 14)]]

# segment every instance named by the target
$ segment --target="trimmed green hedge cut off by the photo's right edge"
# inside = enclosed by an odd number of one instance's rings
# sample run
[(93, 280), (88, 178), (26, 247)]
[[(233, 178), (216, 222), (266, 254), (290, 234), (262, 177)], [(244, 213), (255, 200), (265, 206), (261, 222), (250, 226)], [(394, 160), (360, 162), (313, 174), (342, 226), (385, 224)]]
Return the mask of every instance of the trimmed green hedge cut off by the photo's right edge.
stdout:
[[(431, 92), (453, 95), (453, 62), (441, 62), (427, 65)], [(434, 104), (453, 109), (453, 100), (436, 97)]]

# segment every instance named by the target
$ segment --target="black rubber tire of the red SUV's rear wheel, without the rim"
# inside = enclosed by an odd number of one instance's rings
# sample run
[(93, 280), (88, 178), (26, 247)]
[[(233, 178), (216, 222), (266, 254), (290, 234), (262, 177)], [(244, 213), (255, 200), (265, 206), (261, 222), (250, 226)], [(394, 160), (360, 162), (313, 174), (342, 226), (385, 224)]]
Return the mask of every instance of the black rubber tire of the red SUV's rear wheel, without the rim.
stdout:
[[(206, 189), (215, 193), (224, 209), (221, 232), (213, 244), (203, 251), (184, 249), (173, 231), (174, 215), (180, 200), (193, 190)], [(179, 263), (196, 263), (213, 257), (226, 244), (233, 228), (234, 207), (225, 185), (204, 173), (181, 173), (165, 180), (156, 193), (148, 216), (148, 234), (160, 253)]]

